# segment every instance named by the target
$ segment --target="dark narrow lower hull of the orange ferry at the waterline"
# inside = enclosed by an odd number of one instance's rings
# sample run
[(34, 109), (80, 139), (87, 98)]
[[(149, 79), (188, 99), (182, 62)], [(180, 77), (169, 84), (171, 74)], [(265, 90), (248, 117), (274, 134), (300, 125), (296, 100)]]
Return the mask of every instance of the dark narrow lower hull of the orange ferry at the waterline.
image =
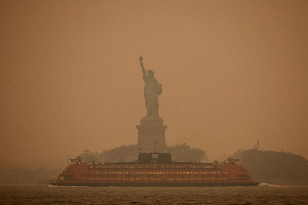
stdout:
[(51, 183), (55, 186), (84, 186), (84, 187), (246, 187), (257, 186), (258, 182), (230, 182), (230, 183), (187, 183), (187, 182), (156, 182), (156, 183), (138, 183), (138, 182), (105, 182), (105, 183)]

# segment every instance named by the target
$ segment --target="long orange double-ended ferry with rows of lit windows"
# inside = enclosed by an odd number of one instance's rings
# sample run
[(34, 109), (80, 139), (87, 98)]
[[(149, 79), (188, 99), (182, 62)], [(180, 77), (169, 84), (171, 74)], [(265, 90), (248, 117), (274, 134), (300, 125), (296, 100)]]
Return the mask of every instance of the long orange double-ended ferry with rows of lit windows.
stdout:
[(71, 159), (52, 185), (95, 187), (257, 186), (237, 159), (223, 163), (172, 161), (170, 153), (139, 153), (134, 162), (85, 163)]

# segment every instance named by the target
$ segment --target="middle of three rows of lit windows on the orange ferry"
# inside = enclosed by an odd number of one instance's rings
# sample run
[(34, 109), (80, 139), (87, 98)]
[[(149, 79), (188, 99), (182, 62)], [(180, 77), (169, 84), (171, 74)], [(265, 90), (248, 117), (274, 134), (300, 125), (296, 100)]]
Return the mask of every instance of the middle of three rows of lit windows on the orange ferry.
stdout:
[(164, 171), (149, 171), (149, 172), (82, 172), (83, 175), (86, 174), (224, 174), (228, 175), (229, 172), (164, 172)]

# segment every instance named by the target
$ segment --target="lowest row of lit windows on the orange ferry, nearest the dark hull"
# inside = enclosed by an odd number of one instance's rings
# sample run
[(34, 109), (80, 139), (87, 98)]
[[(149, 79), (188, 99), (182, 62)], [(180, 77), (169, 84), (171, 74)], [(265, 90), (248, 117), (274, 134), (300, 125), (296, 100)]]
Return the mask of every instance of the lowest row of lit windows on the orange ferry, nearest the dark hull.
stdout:
[(236, 180), (236, 178), (81, 178), (81, 180)]

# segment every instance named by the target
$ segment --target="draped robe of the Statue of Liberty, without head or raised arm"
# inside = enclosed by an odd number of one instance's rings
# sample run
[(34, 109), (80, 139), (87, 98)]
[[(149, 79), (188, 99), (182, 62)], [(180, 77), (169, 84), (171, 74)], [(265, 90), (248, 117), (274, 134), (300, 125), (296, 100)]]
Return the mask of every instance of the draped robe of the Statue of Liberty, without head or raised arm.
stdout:
[(150, 78), (146, 73), (142, 76), (144, 79), (144, 100), (147, 108), (147, 116), (158, 116), (158, 96), (161, 94), (161, 86), (155, 78)]

